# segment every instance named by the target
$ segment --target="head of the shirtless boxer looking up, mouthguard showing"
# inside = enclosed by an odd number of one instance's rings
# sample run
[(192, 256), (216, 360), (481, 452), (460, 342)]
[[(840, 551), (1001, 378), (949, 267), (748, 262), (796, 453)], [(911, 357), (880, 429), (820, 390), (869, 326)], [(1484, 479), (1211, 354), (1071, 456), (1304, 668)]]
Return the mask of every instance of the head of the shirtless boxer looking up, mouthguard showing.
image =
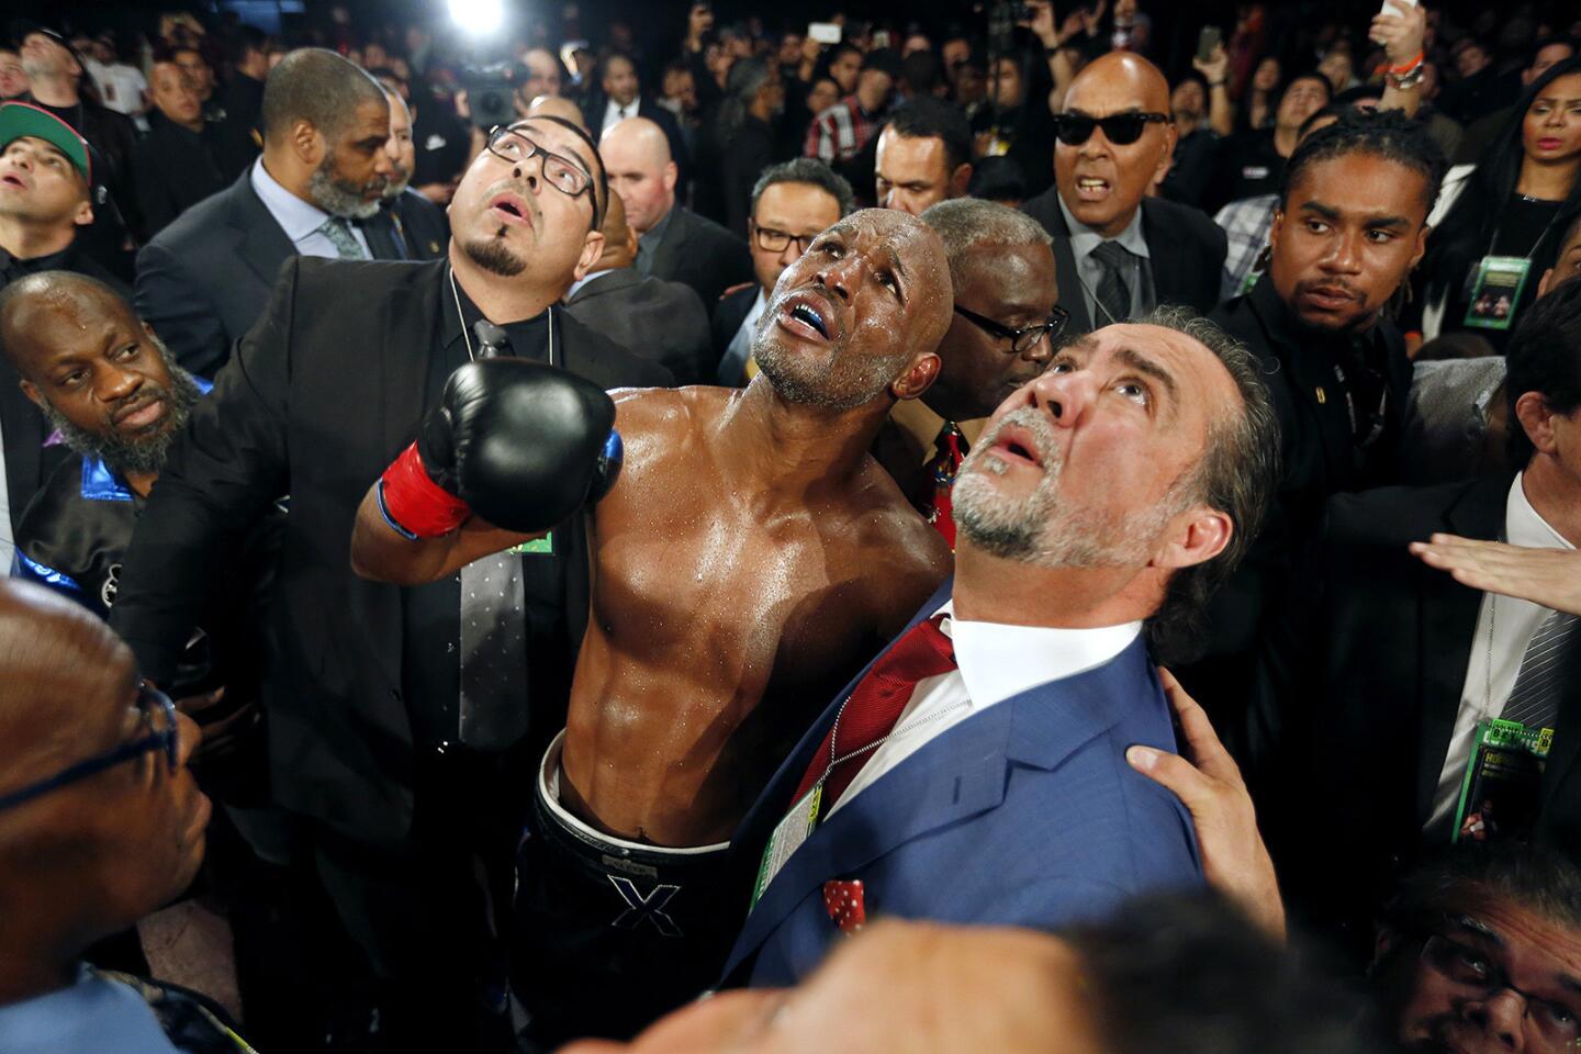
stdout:
[(863, 209), (779, 275), (753, 354), (790, 401), (846, 411), (915, 398), (939, 373), (952, 305), (939, 235), (907, 213)]

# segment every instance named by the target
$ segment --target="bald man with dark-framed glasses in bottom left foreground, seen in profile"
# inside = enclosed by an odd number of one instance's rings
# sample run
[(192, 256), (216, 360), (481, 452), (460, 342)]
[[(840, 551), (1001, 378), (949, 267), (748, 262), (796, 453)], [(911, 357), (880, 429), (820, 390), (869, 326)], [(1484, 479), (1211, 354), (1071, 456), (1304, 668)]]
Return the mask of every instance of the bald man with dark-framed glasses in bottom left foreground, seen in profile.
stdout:
[(81, 961), (198, 874), (199, 738), (103, 621), (0, 580), (0, 1049), (250, 1051), (207, 999)]

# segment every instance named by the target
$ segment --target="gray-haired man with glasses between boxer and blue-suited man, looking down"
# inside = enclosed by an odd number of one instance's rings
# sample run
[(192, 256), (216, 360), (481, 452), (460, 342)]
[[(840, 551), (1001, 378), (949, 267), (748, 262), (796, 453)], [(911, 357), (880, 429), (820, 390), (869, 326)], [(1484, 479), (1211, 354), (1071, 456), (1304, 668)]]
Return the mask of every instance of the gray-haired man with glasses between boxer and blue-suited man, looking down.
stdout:
[(955, 319), (939, 343), (939, 379), (898, 403), (874, 454), (955, 547), (950, 488), (961, 460), (1012, 392), (1042, 373), (1064, 330), (1048, 232), (990, 201), (944, 201), (922, 213), (944, 239)]

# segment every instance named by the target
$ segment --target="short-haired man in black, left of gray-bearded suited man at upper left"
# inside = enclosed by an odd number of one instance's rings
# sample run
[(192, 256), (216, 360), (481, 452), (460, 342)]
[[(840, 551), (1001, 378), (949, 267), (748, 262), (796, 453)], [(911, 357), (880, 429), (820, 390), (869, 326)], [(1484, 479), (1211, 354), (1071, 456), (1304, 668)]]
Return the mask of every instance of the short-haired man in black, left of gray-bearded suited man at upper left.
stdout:
[(225, 188), (220, 142), (225, 122), (206, 122), (202, 101), (174, 62), (149, 71), (149, 134), (131, 152), (138, 202), (150, 235), (209, 194)]

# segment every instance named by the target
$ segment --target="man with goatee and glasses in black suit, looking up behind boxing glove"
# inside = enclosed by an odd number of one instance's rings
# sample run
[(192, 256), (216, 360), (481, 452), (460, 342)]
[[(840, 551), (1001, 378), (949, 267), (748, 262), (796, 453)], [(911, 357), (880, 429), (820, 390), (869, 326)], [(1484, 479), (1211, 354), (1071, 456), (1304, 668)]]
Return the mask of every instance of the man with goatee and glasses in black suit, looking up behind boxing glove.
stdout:
[[(598, 259), (606, 198), (585, 133), (530, 119), (468, 168), (447, 259), (289, 261), (171, 452), (126, 553), (112, 621), (163, 681), (209, 567), (291, 495), (262, 686), (274, 790), (304, 819), (324, 885), (381, 981), (389, 1049), (498, 1040), (498, 1016), (477, 1022), (476, 1011), (501, 991), (490, 923), (508, 905), (528, 790), (508, 773), (533, 755), (530, 732), (563, 724), (588, 570), (582, 533), (568, 525), (501, 563), (515, 602), (500, 604), (496, 589), (482, 612), (479, 591), (462, 588), (468, 569), (411, 589), (357, 578), (353, 520), (367, 480), (477, 356), (517, 354), (604, 387), (669, 381), (553, 307)], [(525, 637), (520, 702), (487, 735), (460, 713), (463, 612)]]

